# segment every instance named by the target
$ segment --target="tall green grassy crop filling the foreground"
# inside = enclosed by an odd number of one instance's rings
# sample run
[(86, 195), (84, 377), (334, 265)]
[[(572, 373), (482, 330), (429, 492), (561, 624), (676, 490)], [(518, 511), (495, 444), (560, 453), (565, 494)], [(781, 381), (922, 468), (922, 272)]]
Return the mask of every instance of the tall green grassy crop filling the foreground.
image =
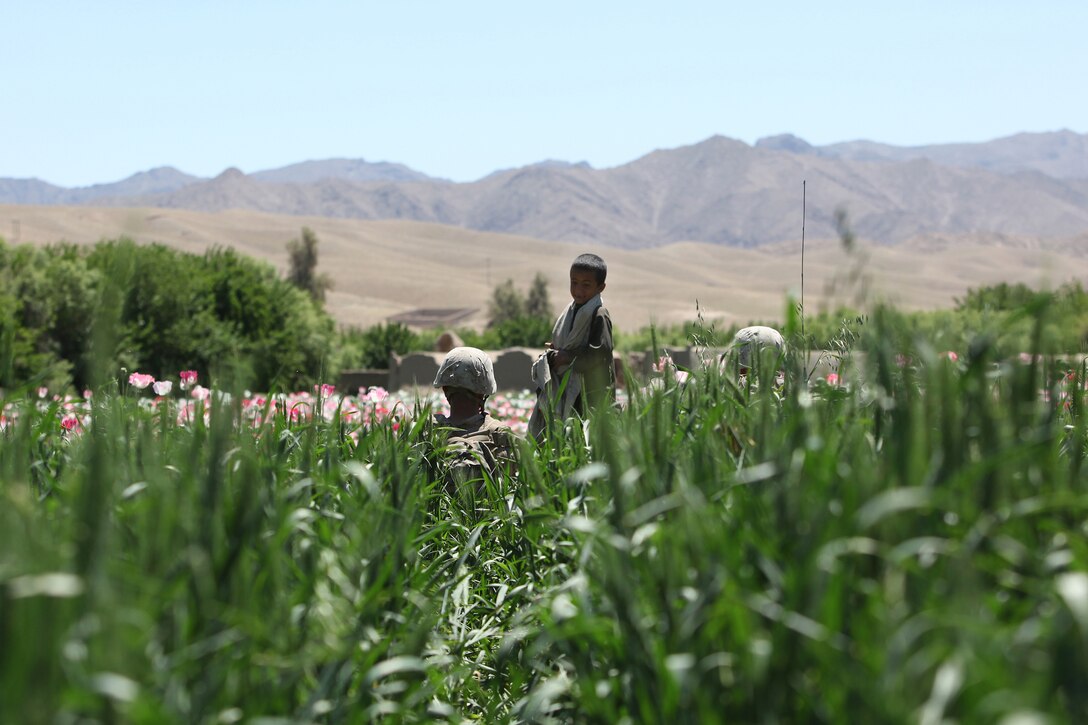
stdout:
[(9, 390), (0, 722), (1088, 722), (1083, 366), (893, 320), (833, 383), (635, 388), (479, 486), (425, 408), (111, 383), (74, 430)]

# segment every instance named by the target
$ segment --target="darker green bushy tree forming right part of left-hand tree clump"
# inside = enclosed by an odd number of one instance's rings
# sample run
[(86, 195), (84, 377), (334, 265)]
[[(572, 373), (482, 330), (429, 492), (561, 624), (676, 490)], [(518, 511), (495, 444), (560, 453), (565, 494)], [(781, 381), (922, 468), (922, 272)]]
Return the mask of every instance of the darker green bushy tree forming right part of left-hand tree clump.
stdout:
[(103, 271), (124, 260), (127, 277), (115, 280), (123, 288), (116, 367), (157, 377), (232, 371), (258, 390), (335, 372), (332, 318), (270, 265), (233, 249), (197, 256), (128, 241), (99, 245), (89, 257)]

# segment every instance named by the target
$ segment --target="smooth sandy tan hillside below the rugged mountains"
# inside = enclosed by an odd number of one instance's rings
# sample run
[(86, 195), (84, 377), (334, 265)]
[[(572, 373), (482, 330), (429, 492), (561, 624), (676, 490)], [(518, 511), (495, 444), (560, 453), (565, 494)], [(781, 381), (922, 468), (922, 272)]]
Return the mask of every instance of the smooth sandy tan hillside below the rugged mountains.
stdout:
[[(302, 225), (320, 239), (320, 271), (332, 277), (332, 314), (368, 325), (420, 307), (474, 307), (481, 314), (495, 284), (528, 287), (543, 272), (554, 304), (566, 304), (567, 266), (582, 251), (608, 262), (605, 298), (617, 325), (707, 319), (781, 319), (801, 291), (801, 244), (731, 248), (682, 243), (650, 249), (542, 242), (406, 221), (362, 221), (254, 211), (0, 206), (9, 242), (77, 244), (127, 236), (187, 251), (234, 247), (285, 269), (286, 244)], [(1036, 286), (1088, 279), (1088, 235), (1042, 241), (998, 235), (919, 236), (897, 246), (863, 238), (846, 255), (834, 238), (808, 239), (805, 303), (809, 311), (865, 299), (891, 299), (910, 309), (952, 304), (970, 287), (1007, 281)], [(864, 299), (862, 300), (864, 302)]]

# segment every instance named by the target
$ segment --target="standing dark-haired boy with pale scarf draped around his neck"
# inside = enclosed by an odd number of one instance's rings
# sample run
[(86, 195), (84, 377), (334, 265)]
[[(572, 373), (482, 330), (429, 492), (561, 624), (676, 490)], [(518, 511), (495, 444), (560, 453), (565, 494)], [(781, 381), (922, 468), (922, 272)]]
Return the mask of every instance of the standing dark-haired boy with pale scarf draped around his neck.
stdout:
[(533, 364), (536, 407), (529, 432), (537, 440), (546, 415), (585, 415), (616, 400), (611, 317), (601, 299), (607, 275), (605, 260), (597, 255), (580, 255), (570, 266), (572, 302), (555, 321), (544, 355)]

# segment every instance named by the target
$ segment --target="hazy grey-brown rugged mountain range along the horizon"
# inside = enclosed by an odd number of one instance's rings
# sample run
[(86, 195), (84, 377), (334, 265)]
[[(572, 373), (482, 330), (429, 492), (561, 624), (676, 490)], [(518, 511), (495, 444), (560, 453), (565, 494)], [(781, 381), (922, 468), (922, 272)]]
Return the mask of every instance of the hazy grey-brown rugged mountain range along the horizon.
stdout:
[(880, 244), (927, 234), (1074, 237), (1088, 230), (1088, 135), (1018, 134), (980, 144), (747, 145), (714, 136), (594, 169), (545, 161), (454, 183), (403, 164), (306, 161), (199, 179), (173, 168), (62, 188), (0, 179), (0, 204), (247, 209), (411, 220), (626, 248), (678, 242), (757, 247), (834, 236), (837, 214)]

